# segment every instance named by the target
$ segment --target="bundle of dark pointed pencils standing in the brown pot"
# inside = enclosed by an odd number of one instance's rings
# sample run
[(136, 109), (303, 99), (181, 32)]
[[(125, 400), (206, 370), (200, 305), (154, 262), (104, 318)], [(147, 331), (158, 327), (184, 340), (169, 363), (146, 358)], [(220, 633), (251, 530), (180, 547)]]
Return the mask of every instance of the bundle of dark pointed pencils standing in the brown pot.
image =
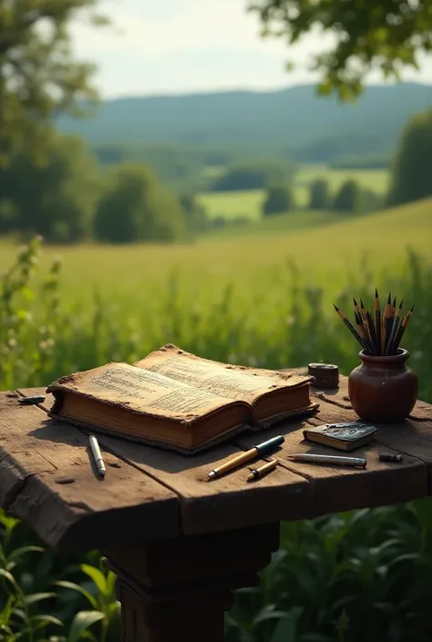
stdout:
[[(394, 355), (400, 350), (400, 341), (406, 331), (406, 326), (411, 319), (413, 307), (402, 316), (404, 301), (396, 306), (396, 297), (391, 300), (388, 294), (386, 306), (381, 311), (378, 292), (375, 290), (374, 308), (372, 311), (365, 310), (365, 305), (360, 299), (360, 305), (354, 301), (355, 326), (348, 320), (343, 311), (334, 305), (334, 310), (344, 321), (345, 326), (355, 336), (355, 339), (362, 346), (365, 354)], [(356, 328), (355, 328), (356, 327)]]

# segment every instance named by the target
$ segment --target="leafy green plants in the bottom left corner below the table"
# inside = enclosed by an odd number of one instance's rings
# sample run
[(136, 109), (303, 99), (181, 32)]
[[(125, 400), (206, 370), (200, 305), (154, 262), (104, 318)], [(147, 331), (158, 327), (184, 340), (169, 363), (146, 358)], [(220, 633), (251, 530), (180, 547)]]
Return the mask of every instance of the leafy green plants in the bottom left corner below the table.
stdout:
[[(86, 559), (86, 564), (56, 567), (55, 555), (0, 510), (0, 640), (114, 640), (119, 606), (115, 576), (98, 561), (98, 555), (87, 554)], [(56, 581), (60, 568), (80, 584)], [(71, 591), (77, 593), (77, 600), (71, 599)], [(81, 608), (86, 602), (91, 610)]]

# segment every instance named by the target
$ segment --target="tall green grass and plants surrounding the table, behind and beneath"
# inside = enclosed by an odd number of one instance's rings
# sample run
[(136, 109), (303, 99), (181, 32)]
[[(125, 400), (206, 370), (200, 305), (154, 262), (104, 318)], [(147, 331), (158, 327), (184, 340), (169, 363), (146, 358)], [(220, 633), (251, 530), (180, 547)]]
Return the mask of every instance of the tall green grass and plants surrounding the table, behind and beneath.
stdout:
[[(62, 285), (60, 261), (38, 270), (40, 253), (41, 240), (33, 239), (0, 277), (0, 389), (132, 362), (167, 341), (212, 359), (270, 368), (324, 360), (349, 372), (358, 363), (327, 293), (305, 286), (295, 263), (274, 270), (271, 287), (243, 298), (232, 285), (193, 290), (172, 271), (151, 306), (139, 291), (128, 300), (120, 290), (118, 296), (95, 291), (84, 304), (78, 290), (74, 298)], [(388, 265), (386, 287), (416, 302), (404, 346), (419, 375), (419, 396), (432, 401), (432, 265), (414, 253), (397, 263), (397, 270)], [(374, 282), (365, 263), (332, 294), (349, 310), (353, 294), (370, 300)], [(41, 552), (35, 536), (5, 515), (0, 531), (0, 640), (116, 639), (114, 578), (97, 553), (60, 560)], [(227, 640), (426, 641), (430, 553), (427, 502), (283, 525), (283, 545), (262, 572), (262, 585), (240, 591), (227, 616)]]

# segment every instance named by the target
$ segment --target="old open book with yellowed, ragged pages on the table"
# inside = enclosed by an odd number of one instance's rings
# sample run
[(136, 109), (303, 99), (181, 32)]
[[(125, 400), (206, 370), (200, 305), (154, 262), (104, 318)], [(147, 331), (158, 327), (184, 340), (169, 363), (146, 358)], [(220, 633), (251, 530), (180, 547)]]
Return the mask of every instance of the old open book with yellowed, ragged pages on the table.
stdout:
[(139, 362), (61, 377), (50, 415), (95, 431), (195, 453), (242, 430), (314, 413), (313, 377), (201, 359), (167, 344)]

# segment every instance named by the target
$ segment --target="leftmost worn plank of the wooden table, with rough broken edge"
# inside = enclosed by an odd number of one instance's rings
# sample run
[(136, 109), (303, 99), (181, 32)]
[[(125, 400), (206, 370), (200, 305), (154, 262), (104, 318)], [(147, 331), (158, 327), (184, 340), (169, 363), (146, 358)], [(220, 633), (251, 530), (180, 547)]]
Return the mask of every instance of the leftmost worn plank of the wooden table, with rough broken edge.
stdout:
[(141, 538), (179, 534), (176, 494), (111, 454), (99, 480), (83, 433), (17, 399), (0, 393), (0, 504), (11, 514), (65, 550), (130, 541), (140, 520)]

